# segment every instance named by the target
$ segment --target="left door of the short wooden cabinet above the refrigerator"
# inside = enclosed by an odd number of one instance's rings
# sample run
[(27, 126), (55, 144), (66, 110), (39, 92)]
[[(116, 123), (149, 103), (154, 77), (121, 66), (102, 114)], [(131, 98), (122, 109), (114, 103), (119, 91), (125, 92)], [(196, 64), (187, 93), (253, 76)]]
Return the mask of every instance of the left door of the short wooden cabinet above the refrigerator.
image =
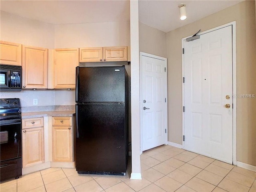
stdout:
[(101, 62), (102, 47), (90, 47), (79, 49), (79, 62)]

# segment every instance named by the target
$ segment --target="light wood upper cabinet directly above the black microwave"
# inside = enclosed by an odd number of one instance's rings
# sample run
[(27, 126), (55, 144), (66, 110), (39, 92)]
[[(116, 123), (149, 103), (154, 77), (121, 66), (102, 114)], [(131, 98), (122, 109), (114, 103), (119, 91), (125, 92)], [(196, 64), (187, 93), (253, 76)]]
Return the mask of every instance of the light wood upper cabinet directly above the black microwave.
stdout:
[(21, 65), (21, 44), (0, 41), (0, 63)]

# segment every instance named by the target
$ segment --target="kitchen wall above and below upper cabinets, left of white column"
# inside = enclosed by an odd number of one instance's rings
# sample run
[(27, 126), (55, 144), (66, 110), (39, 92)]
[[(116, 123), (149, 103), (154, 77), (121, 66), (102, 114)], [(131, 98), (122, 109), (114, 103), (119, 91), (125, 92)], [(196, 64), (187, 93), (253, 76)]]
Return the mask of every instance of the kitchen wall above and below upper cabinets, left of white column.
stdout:
[[(1, 12), (0, 28), (0, 40), (48, 49), (130, 46), (129, 22), (52, 25)], [(48, 67), (53, 69), (51, 63)], [(127, 69), (130, 76), (129, 67)], [(33, 106), (33, 98), (38, 98), (38, 106), (75, 104), (74, 90), (1, 92), (1, 98), (14, 95), (21, 99), (23, 107)]]

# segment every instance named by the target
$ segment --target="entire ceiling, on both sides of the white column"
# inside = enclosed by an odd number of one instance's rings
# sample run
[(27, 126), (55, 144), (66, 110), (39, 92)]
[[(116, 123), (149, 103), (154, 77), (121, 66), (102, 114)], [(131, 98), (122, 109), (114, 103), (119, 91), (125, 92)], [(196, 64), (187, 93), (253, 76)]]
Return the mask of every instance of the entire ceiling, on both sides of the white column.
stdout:
[[(179, 19), (186, 3), (188, 18)], [(242, 0), (139, 0), (140, 22), (169, 32)], [(0, 0), (0, 10), (50, 24), (122, 22), (130, 20), (129, 0)]]

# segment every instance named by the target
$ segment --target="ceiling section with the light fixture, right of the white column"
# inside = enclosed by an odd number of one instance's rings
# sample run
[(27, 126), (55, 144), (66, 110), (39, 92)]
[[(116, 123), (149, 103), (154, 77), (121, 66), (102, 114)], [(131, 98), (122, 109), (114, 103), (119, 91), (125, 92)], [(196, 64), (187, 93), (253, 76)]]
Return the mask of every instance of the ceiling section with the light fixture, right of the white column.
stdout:
[[(169, 32), (210, 14), (233, 6), (242, 0), (140, 0), (140, 22)], [(180, 20), (178, 4), (186, 3), (188, 18)]]

